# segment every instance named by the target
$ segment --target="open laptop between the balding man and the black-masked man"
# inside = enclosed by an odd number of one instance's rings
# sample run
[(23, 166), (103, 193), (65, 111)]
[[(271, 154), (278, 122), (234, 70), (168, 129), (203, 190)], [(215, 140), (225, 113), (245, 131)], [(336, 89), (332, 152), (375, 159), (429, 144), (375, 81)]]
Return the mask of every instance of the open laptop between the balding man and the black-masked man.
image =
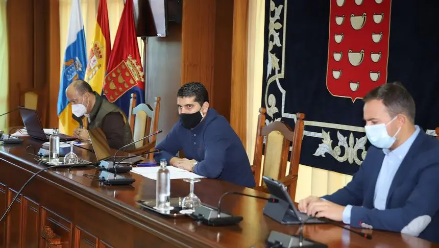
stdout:
[[(93, 151), (96, 155), (97, 161), (112, 162), (114, 159), (114, 152), (111, 151), (110, 145), (108, 145), (107, 137), (105, 137), (102, 129), (95, 128), (92, 130), (88, 130), (88, 135), (90, 136), (91, 146), (93, 147)], [(116, 163), (125, 158), (125, 156), (116, 156)], [(125, 159), (124, 161), (120, 162), (120, 164), (133, 165), (142, 160), (143, 157), (136, 156), (133, 158)]]

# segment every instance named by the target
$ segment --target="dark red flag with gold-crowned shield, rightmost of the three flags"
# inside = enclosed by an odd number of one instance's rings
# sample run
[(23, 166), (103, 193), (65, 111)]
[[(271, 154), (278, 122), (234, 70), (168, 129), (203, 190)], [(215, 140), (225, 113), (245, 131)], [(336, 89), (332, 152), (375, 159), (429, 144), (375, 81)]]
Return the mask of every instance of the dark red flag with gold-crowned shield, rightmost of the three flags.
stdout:
[(127, 0), (108, 61), (103, 93), (108, 101), (114, 103), (133, 87), (144, 90), (144, 82), (134, 24), (133, 0)]

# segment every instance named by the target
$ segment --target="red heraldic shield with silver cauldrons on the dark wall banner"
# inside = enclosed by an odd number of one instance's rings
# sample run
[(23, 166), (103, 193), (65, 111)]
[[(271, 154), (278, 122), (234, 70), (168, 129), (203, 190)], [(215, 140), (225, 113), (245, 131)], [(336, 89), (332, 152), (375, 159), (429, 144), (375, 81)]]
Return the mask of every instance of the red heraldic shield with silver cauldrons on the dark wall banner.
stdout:
[(391, 1), (331, 0), (326, 87), (355, 102), (387, 80)]

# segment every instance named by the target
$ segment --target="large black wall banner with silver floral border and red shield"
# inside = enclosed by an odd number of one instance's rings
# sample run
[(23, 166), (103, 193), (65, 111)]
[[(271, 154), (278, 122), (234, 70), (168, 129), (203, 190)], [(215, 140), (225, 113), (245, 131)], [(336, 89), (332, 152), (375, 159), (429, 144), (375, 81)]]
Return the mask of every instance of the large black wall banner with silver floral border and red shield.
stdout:
[(353, 175), (367, 154), (361, 98), (401, 82), (416, 124), (439, 127), (439, 2), (266, 0), (266, 123), (305, 113), (301, 164)]

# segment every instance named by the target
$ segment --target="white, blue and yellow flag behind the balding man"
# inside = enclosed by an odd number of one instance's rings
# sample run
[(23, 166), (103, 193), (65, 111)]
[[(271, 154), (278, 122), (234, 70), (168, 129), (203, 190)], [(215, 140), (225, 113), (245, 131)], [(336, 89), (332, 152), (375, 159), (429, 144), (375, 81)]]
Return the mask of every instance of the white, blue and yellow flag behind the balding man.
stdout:
[(65, 95), (65, 90), (72, 81), (84, 79), (86, 66), (87, 49), (80, 1), (72, 0), (58, 94), (58, 117), (61, 133), (72, 135), (73, 130), (78, 127), (78, 122), (71, 118), (71, 107)]

